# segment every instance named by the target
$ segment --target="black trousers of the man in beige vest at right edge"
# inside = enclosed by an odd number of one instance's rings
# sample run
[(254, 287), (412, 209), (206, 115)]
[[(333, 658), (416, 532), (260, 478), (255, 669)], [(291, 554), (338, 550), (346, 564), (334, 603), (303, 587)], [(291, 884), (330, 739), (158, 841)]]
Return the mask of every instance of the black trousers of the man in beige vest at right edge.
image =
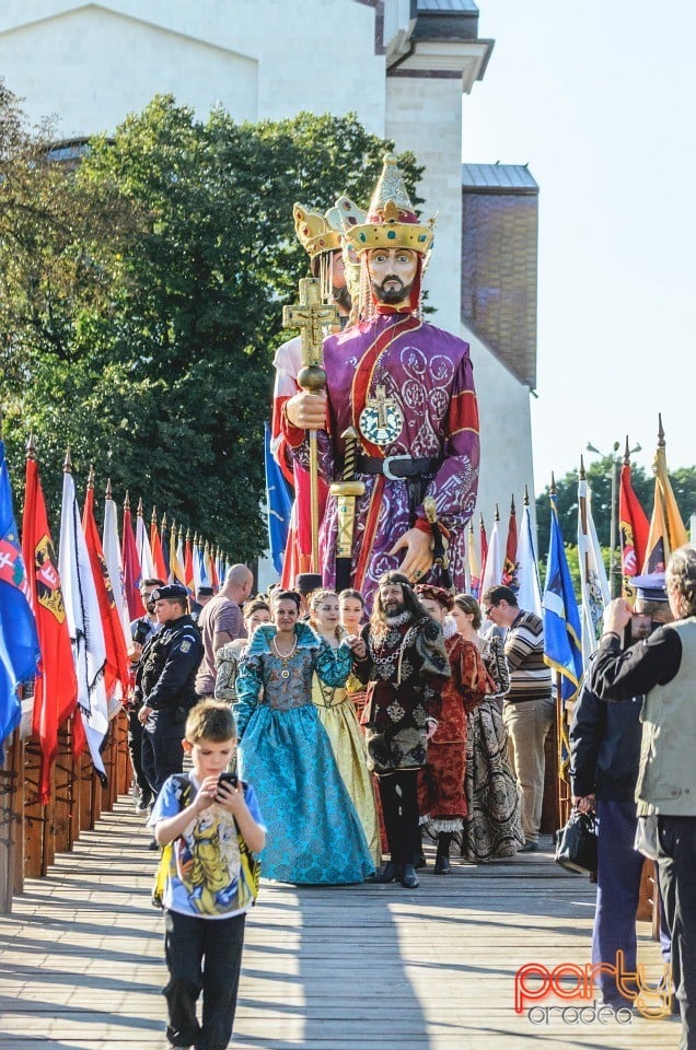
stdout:
[(696, 817), (658, 817), (658, 870), (682, 1013), (678, 1050), (696, 1050)]

